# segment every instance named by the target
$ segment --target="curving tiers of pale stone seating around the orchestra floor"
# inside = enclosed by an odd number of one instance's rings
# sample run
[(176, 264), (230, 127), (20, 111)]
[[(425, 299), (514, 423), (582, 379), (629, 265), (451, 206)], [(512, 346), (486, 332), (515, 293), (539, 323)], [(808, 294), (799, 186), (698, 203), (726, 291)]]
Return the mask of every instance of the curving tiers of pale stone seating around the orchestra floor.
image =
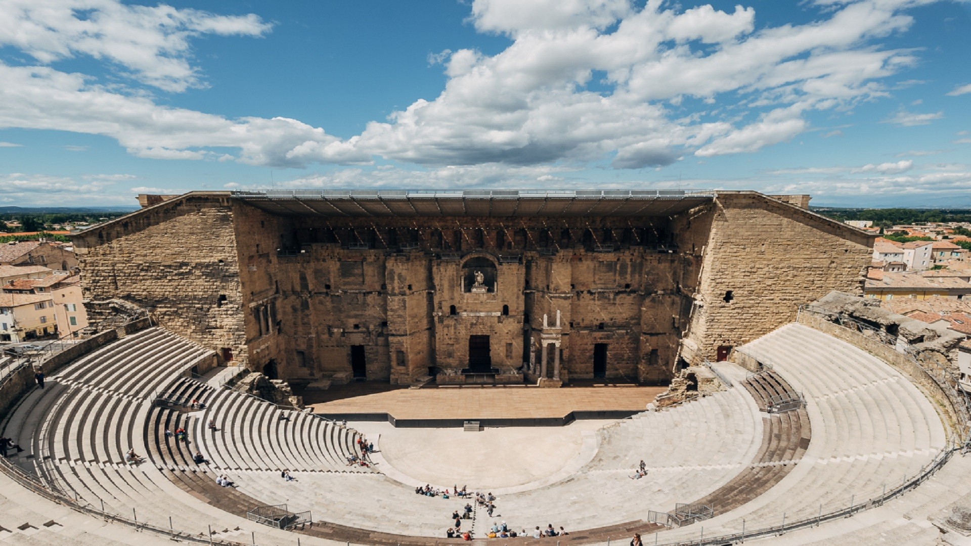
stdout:
[[(704, 523), (710, 536), (738, 531), (743, 518), (749, 529), (778, 525), (784, 513), (791, 521), (817, 514), (820, 506), (846, 506), (850, 495), (877, 495), (884, 483), (892, 487), (913, 475), (945, 446), (944, 428), (921, 392), (886, 363), (844, 342), (792, 324), (739, 350), (770, 362), (778, 375), (602, 429), (599, 451), (586, 466), (561, 481), (499, 495), (493, 519), (515, 529), (564, 525), (572, 531), (566, 541), (616, 541), (634, 530), (655, 529), (643, 520), (647, 510), (700, 501), (717, 509)], [(316, 537), (440, 542), (428, 537), (442, 536), (448, 515), (464, 500), (415, 495), (383, 474), (347, 466), (345, 458), (356, 453), (352, 430), (179, 377), (193, 358), (206, 354), (152, 329), (54, 374), (47, 390), (21, 400), (4, 427), (35, 456), (17, 460), (69, 495), (94, 506), (103, 501), (119, 514), (134, 508), (140, 520), (159, 525), (175, 516), (184, 528), (214, 525), (220, 536), (236, 533), (245, 541), (252, 527), (240, 516), (248, 508), (286, 503), (325, 522), (304, 535), (307, 543)], [(172, 397), (204, 401), (206, 408), (152, 406), (161, 386)], [(786, 389), (802, 392), (806, 407), (758, 411), (756, 400), (765, 407), (771, 392)], [(210, 419), (217, 423), (215, 433), (207, 427)], [(189, 430), (188, 444), (165, 436), (166, 428), (178, 427)], [(128, 446), (151, 463), (120, 463)], [(542, 449), (524, 445), (523, 456)], [(193, 463), (196, 450), (211, 463)], [(642, 459), (648, 477), (631, 480)], [(282, 469), (296, 481), (285, 482)], [(228, 474), (238, 489), (218, 487), (217, 473)], [(0, 515), (0, 527), (3, 521)], [(662, 531), (662, 542), (695, 538), (695, 527)], [(886, 541), (879, 529), (866, 527), (853, 530), (855, 540)], [(899, 529), (915, 541), (929, 536), (921, 526)], [(817, 538), (822, 543), (829, 537)], [(257, 542), (283, 541), (272, 535)]]

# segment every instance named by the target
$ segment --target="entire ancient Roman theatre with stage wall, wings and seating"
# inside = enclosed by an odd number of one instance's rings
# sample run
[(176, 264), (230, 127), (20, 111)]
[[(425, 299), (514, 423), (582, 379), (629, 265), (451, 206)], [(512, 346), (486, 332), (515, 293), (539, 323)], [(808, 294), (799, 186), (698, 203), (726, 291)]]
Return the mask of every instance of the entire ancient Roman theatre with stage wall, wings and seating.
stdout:
[(74, 236), (84, 340), (0, 377), (0, 542), (971, 539), (961, 340), (808, 195), (139, 199)]

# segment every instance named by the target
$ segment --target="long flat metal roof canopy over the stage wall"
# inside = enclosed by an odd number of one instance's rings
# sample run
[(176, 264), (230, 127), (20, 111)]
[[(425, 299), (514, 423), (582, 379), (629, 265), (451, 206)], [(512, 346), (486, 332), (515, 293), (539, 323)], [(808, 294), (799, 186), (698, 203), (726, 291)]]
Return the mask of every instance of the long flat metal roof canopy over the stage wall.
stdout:
[(234, 199), (281, 216), (666, 217), (712, 201), (706, 189), (275, 189)]

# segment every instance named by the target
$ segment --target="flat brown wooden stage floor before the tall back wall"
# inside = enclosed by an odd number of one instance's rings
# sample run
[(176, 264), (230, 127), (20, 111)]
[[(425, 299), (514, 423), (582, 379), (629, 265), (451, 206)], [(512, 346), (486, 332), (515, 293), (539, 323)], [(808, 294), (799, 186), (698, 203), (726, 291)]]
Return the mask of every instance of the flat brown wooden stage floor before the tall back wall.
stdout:
[[(399, 420), (561, 418), (572, 411), (644, 411), (665, 387), (462, 387), (397, 389), (331, 399), (307, 407), (322, 414), (387, 413)], [(334, 393), (331, 393), (333, 397)], [(305, 394), (306, 395), (306, 394)]]

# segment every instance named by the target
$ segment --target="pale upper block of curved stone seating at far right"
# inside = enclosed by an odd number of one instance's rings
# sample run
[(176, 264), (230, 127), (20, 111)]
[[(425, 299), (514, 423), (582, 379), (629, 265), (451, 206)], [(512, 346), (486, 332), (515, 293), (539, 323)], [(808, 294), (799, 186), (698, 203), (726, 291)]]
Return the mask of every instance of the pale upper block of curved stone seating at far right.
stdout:
[(706, 522), (706, 532), (737, 532), (742, 518), (754, 529), (779, 525), (783, 514), (793, 521), (848, 507), (913, 476), (946, 447), (931, 402), (886, 362), (849, 343), (787, 324), (738, 350), (771, 363), (803, 393), (812, 441), (779, 484)]

